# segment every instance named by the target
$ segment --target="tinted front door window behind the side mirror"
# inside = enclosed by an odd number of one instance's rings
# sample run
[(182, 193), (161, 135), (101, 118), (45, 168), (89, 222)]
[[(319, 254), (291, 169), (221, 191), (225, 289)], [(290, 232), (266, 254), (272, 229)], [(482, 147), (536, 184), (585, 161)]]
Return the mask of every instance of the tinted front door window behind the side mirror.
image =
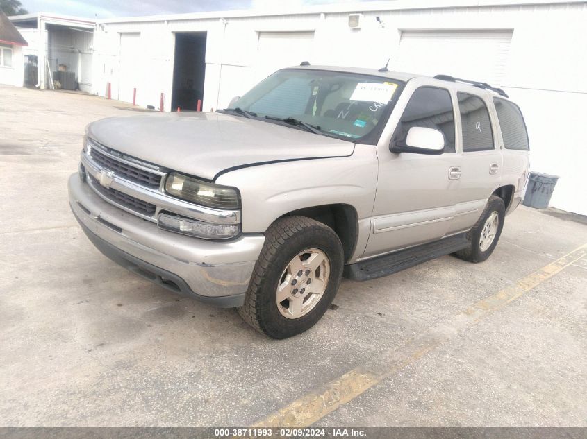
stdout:
[(413, 126), (440, 130), (445, 135), (445, 151), (454, 152), (454, 112), (448, 90), (436, 87), (417, 89), (399, 120), (394, 141), (405, 141)]

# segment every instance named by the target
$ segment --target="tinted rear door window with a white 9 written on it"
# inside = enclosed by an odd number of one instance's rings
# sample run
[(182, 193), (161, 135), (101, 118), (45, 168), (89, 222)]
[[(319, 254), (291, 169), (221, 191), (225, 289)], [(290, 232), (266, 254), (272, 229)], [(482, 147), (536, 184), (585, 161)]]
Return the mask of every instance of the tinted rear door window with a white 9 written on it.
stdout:
[(487, 105), (479, 96), (457, 93), (463, 126), (463, 152), (493, 149), (493, 133)]

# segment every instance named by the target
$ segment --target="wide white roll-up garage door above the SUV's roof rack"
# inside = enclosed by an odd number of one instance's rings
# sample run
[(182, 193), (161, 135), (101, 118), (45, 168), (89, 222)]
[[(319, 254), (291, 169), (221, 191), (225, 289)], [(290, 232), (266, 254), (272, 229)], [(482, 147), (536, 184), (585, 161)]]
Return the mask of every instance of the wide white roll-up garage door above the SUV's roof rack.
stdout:
[(397, 71), (502, 85), (512, 31), (402, 31)]

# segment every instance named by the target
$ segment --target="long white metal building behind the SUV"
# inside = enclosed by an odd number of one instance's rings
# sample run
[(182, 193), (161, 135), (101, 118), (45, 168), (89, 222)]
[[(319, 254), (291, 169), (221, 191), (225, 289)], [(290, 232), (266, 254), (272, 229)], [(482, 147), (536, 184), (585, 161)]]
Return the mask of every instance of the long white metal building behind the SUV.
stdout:
[[(277, 2), (276, 2), (277, 3)], [(285, 7), (285, 2), (281, 7)], [(395, 0), (99, 21), (92, 92), (163, 110), (226, 107), (275, 69), (311, 64), (449, 74), (524, 112), (551, 205), (587, 214), (587, 1)]]

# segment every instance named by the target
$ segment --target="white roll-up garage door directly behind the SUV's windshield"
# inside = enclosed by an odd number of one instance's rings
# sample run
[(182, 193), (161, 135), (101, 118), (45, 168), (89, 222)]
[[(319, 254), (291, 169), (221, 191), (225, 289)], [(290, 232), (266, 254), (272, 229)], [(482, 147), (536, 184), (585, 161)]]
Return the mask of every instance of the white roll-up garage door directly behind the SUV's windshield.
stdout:
[(256, 80), (274, 71), (311, 61), (313, 32), (259, 32)]

